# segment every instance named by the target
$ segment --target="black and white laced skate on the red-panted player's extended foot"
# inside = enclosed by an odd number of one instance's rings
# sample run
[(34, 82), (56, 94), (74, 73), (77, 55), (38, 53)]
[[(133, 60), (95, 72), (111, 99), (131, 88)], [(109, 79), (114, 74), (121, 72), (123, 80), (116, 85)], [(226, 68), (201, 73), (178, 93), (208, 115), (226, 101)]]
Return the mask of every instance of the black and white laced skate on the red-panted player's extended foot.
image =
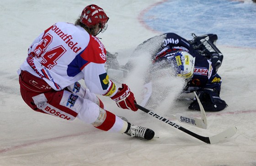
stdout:
[(154, 137), (155, 132), (151, 129), (140, 127), (128, 122), (128, 130), (125, 134), (141, 140), (151, 140)]

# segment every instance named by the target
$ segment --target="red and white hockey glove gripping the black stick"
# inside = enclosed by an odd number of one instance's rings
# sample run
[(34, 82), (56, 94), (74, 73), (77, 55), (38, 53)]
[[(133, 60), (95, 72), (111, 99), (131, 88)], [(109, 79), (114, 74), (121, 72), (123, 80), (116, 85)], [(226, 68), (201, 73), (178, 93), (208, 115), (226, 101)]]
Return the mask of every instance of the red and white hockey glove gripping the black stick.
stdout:
[(135, 106), (135, 98), (130, 88), (126, 84), (122, 84), (122, 88), (118, 88), (119, 92), (115, 94), (111, 99), (117, 103), (117, 106), (122, 109), (131, 109), (137, 111), (138, 108)]

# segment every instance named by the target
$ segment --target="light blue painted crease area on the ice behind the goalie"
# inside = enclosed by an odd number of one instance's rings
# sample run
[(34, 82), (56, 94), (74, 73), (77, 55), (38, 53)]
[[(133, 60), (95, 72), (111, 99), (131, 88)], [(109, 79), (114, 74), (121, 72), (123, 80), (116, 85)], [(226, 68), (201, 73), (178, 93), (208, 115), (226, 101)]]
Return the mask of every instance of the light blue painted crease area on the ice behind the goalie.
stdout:
[(218, 44), (256, 47), (256, 4), (232, 0), (164, 0), (151, 6), (142, 21), (161, 33), (216, 33)]

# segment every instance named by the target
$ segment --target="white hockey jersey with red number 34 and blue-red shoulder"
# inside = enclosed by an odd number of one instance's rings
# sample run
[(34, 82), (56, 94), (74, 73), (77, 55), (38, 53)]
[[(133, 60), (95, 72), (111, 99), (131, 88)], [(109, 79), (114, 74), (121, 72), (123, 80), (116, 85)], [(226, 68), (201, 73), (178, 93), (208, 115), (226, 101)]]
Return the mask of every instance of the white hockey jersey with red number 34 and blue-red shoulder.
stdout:
[(42, 78), (54, 90), (85, 80), (91, 92), (112, 97), (116, 85), (104, 68), (106, 49), (80, 26), (58, 22), (38, 36), (28, 49), (21, 70)]

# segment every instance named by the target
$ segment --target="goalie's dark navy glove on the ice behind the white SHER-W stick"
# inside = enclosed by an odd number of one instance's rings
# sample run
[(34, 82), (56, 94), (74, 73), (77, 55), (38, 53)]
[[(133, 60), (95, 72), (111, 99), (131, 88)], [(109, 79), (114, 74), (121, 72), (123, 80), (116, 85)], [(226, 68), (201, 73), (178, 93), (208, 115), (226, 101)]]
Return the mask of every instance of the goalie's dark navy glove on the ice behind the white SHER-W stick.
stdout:
[[(224, 100), (220, 99), (219, 93), (211, 88), (202, 88), (197, 90), (197, 96), (205, 111), (217, 112), (228, 106)], [(200, 110), (197, 99), (189, 105), (188, 109)]]

